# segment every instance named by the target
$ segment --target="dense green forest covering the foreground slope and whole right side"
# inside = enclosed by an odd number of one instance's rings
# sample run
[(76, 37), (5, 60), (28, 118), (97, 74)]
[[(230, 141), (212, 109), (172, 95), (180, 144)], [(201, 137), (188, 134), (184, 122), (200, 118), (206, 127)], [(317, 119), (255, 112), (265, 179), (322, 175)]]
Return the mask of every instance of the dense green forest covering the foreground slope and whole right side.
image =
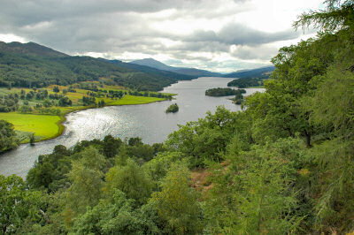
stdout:
[(345, 234), (354, 231), (354, 2), (295, 27), (266, 92), (182, 125), (163, 144), (81, 141), (0, 176), (0, 231)]

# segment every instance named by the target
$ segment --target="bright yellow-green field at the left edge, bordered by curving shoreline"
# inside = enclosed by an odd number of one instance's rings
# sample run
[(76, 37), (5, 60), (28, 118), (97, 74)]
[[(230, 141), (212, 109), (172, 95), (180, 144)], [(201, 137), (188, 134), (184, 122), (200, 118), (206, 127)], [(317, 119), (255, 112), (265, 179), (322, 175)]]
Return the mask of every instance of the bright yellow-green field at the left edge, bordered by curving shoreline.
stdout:
[(0, 113), (0, 119), (12, 123), (16, 131), (35, 133), (38, 140), (48, 140), (60, 134), (59, 116), (10, 112)]

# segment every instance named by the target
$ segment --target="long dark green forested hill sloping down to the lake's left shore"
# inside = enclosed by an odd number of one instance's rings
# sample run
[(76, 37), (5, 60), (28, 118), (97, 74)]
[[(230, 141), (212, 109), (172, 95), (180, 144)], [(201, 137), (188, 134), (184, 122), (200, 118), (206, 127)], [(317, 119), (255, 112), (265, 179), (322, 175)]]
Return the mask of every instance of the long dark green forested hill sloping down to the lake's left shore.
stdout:
[(196, 76), (149, 70), (93, 57), (71, 57), (34, 42), (0, 42), (0, 87), (46, 87), (101, 80), (138, 90), (161, 90)]

